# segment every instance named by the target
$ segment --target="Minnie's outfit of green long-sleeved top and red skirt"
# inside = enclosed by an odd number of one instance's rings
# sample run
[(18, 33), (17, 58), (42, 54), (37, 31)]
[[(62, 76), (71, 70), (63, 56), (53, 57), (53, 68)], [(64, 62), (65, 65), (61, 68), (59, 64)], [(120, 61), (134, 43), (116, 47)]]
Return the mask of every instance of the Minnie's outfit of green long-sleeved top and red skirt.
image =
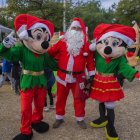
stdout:
[(122, 88), (114, 76), (117, 71), (126, 79), (132, 81), (137, 70), (127, 64), (124, 56), (111, 59), (110, 62), (95, 52), (96, 74), (91, 88), (90, 97), (100, 102), (117, 101), (124, 97)]

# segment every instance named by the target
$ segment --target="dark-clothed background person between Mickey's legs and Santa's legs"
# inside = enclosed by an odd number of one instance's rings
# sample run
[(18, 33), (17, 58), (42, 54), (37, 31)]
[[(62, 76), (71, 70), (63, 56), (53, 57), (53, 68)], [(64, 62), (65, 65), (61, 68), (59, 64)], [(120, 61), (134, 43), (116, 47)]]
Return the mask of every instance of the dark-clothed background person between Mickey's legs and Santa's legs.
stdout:
[(45, 105), (44, 105), (44, 111), (49, 111), (49, 109), (54, 109), (54, 101), (53, 101), (53, 95), (52, 95), (52, 86), (55, 83), (55, 77), (54, 77), (54, 73), (51, 69), (49, 68), (45, 68), (45, 76), (47, 78), (47, 93), (49, 95), (49, 99), (50, 99), (50, 106), (48, 107), (47, 105), (47, 94), (46, 94), (46, 100), (45, 100)]

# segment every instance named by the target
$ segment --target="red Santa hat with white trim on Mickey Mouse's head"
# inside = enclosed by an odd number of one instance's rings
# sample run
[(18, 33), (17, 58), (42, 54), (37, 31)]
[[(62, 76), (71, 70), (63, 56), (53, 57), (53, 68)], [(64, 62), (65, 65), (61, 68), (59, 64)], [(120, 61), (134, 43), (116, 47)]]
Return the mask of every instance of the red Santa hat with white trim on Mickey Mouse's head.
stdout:
[(14, 21), (14, 25), (17, 35), (20, 39), (28, 39), (27, 30), (32, 30), (36, 28), (46, 28), (51, 37), (54, 34), (54, 26), (50, 21), (43, 20), (28, 14), (18, 15)]

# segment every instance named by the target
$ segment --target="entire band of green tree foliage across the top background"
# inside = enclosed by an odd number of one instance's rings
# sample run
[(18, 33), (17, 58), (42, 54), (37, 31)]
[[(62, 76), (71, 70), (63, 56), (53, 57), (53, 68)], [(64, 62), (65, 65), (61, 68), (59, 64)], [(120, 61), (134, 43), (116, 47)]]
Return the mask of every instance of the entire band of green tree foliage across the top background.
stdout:
[(118, 7), (113, 4), (108, 10), (101, 7), (100, 0), (77, 3), (66, 0), (65, 8), (62, 2), (63, 0), (8, 0), (8, 6), (0, 9), (0, 23), (14, 28), (15, 17), (21, 13), (29, 13), (52, 21), (55, 31), (58, 32), (63, 28), (65, 10), (67, 28), (74, 17), (80, 17), (88, 26), (88, 34), (91, 39), (94, 28), (102, 22), (130, 25), (132, 20), (136, 20), (137, 23), (140, 23), (140, 0), (121, 0)]

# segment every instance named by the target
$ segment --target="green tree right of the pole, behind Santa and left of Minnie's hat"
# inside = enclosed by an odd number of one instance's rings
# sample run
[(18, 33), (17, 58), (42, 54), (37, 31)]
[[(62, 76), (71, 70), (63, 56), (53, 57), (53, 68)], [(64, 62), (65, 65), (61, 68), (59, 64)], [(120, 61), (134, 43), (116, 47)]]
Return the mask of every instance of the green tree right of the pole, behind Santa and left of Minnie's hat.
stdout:
[(94, 28), (102, 22), (111, 23), (114, 16), (114, 11), (111, 8), (107, 11), (101, 8), (100, 1), (92, 0), (86, 3), (77, 3), (71, 15), (73, 15), (73, 17), (82, 18), (85, 25), (88, 27), (88, 35), (92, 39)]

